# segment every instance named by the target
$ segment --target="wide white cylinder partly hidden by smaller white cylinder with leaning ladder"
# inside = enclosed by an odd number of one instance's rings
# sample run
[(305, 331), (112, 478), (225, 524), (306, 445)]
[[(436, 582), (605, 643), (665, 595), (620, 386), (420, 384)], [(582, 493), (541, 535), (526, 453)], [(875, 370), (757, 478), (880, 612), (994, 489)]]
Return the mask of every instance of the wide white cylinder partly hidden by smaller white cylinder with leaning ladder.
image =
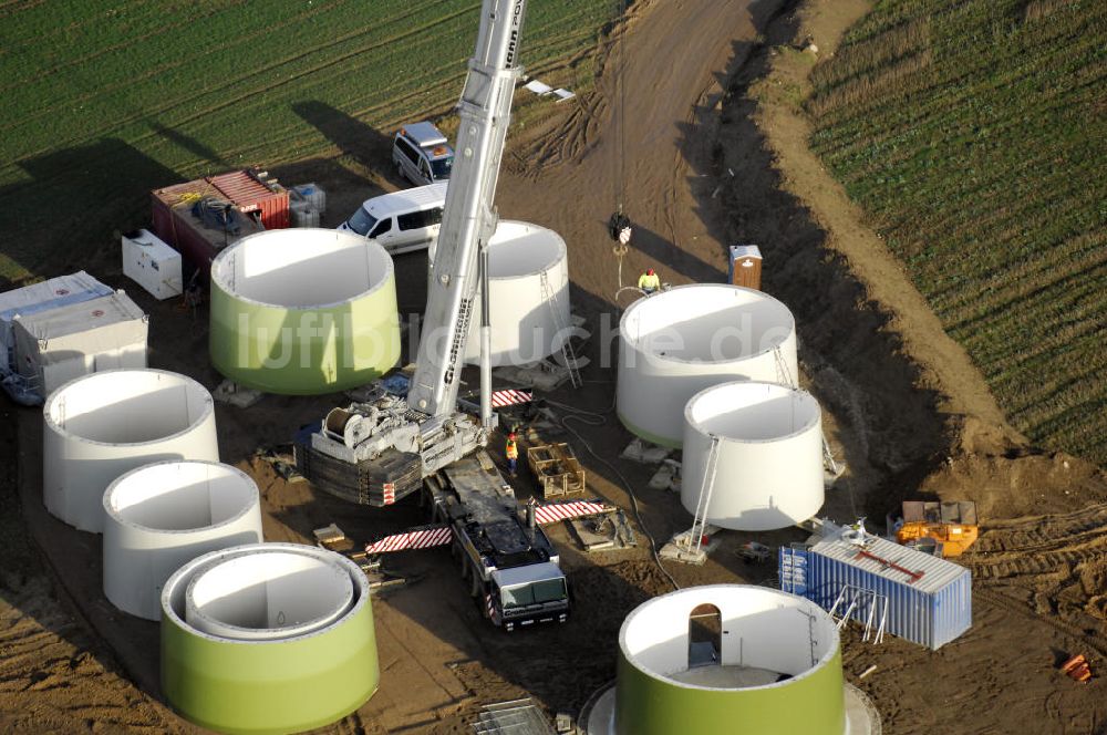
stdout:
[(799, 375), (792, 312), (738, 286), (679, 286), (639, 299), (619, 338), (619, 418), (662, 446), (681, 446), (684, 405), (703, 389), (735, 379), (795, 385)]

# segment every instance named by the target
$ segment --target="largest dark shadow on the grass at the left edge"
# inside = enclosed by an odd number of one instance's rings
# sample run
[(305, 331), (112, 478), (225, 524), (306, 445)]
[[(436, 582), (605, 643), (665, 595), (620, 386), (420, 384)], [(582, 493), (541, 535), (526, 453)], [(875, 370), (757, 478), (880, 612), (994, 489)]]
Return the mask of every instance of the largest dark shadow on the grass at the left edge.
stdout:
[[(123, 141), (56, 151), (21, 162), (30, 177), (0, 188), (3, 255), (15, 266), (0, 269), (0, 287), (29, 276), (86, 269), (114, 258), (113, 232), (146, 226), (151, 189), (182, 178)], [(21, 267), (21, 268), (20, 268)]]

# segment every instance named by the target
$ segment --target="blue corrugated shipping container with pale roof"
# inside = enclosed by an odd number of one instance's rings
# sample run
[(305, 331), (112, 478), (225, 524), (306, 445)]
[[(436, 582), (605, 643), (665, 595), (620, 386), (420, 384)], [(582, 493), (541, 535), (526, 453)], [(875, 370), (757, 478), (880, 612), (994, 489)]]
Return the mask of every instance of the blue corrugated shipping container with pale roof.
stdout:
[[(782, 548), (780, 588), (806, 597), (825, 610), (838, 601), (842, 588), (867, 590), (888, 600), (886, 631), (931, 650), (955, 640), (972, 627), (972, 572), (945, 559), (909, 549), (879, 537), (869, 537), (865, 551), (899, 567), (921, 572), (908, 574), (876, 559), (858, 555), (859, 547), (831, 531), (807, 545)], [(836, 614), (842, 614), (840, 603)], [(872, 615), (879, 624), (881, 610)], [(869, 603), (856, 607), (850, 618), (865, 624)]]

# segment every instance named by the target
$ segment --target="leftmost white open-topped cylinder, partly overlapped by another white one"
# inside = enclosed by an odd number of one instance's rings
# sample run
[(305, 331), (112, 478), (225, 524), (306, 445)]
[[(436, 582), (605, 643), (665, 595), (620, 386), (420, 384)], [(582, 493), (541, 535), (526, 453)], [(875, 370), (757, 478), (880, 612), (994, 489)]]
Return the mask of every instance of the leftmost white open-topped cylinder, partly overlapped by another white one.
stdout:
[(207, 390), (164, 370), (84, 375), (42, 407), (42, 496), (80, 530), (104, 528), (104, 490), (123, 473), (165, 459), (219, 460)]

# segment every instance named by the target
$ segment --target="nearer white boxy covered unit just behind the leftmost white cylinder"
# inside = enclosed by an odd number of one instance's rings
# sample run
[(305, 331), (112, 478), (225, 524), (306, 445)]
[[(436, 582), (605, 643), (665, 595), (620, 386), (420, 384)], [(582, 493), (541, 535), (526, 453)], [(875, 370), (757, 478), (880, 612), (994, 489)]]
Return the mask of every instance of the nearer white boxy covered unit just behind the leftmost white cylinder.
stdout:
[(14, 372), (40, 398), (81, 375), (146, 366), (148, 319), (123, 291), (13, 320)]

